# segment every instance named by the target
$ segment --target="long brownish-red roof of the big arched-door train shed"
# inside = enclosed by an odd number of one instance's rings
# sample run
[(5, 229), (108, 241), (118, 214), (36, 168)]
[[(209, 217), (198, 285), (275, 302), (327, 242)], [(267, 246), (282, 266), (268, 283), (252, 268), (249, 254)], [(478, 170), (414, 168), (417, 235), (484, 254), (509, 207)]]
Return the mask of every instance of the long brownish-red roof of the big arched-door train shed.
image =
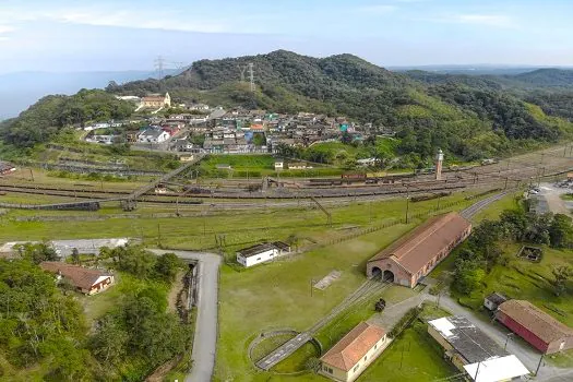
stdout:
[(374, 255), (369, 262), (394, 258), (406, 271), (416, 274), (470, 226), (468, 220), (455, 212), (434, 216)]

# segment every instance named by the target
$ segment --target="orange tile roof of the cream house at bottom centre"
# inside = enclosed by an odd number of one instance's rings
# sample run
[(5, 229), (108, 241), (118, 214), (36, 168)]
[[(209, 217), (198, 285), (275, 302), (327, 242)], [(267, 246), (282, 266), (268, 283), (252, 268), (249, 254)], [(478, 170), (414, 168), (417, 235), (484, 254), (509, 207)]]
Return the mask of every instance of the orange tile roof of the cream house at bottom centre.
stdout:
[(361, 322), (326, 351), (321, 361), (349, 371), (385, 334), (382, 327)]

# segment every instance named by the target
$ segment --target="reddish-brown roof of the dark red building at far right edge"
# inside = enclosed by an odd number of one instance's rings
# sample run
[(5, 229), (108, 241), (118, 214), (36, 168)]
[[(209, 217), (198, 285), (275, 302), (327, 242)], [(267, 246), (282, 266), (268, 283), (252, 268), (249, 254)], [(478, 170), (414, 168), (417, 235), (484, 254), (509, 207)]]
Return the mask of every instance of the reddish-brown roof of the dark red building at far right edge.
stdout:
[(501, 303), (498, 309), (534, 333), (546, 344), (563, 337), (573, 336), (573, 329), (557, 321), (529, 301), (509, 300)]

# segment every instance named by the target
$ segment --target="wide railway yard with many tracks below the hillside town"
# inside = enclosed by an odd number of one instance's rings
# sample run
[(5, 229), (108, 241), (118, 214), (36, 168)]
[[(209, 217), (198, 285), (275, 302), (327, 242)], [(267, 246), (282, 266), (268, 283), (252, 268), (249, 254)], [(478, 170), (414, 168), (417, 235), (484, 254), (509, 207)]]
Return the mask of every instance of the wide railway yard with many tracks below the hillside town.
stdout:
[[(11, 203), (0, 195), (4, 208), (98, 210), (103, 204), (121, 203), (124, 211), (135, 205), (163, 205), (193, 208), (208, 203), (224, 208), (291, 206), (300, 200), (320, 198), (321, 203), (345, 203), (357, 199), (380, 200), (395, 196), (437, 194), (474, 189), (513, 189), (552, 179), (573, 168), (569, 146), (529, 153), (486, 166), (445, 170), (441, 180), (433, 175), (396, 174), (367, 177), (357, 174), (331, 178), (203, 179), (193, 178), (193, 165), (187, 163), (155, 180), (134, 188), (122, 183), (34, 181), (15, 174), (0, 177), (0, 193), (21, 195), (26, 202)], [(133, 187), (133, 184), (130, 184)], [(41, 203), (40, 195), (57, 196), (58, 203)]]

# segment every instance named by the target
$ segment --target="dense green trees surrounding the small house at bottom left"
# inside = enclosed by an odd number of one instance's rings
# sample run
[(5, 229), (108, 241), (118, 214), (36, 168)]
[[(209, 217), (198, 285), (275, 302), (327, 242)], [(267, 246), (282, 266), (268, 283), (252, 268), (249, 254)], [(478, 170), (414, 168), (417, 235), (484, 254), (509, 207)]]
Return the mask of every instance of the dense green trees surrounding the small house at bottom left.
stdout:
[(82, 305), (104, 296), (57, 285), (37, 265), (55, 260), (50, 247), (24, 244), (20, 253), (0, 260), (0, 380), (141, 381), (189, 351), (191, 323), (167, 309), (167, 290), (183, 266), (175, 254), (104, 249), (97, 261), (121, 278), (118, 290), (104, 294), (119, 296), (89, 325)]

